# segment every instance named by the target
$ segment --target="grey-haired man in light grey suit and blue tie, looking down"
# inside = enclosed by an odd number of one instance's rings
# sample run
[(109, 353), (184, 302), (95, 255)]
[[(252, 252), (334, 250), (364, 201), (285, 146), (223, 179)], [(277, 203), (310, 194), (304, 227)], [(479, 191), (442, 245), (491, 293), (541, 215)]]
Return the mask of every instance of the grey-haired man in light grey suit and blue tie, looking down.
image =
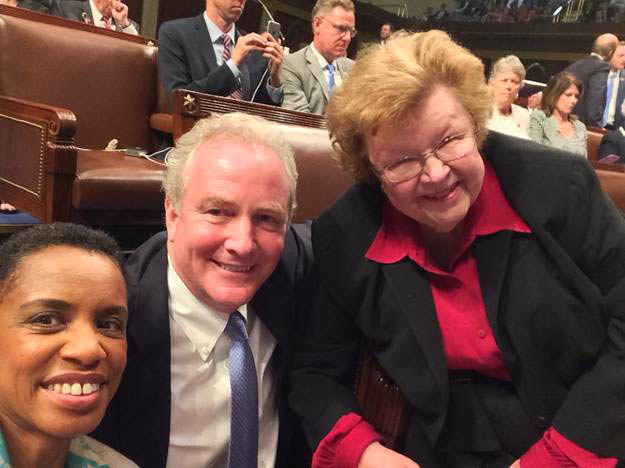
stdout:
[(282, 107), (323, 114), (334, 89), (352, 68), (347, 47), (356, 36), (351, 0), (317, 0), (312, 11), (313, 42), (284, 59)]

